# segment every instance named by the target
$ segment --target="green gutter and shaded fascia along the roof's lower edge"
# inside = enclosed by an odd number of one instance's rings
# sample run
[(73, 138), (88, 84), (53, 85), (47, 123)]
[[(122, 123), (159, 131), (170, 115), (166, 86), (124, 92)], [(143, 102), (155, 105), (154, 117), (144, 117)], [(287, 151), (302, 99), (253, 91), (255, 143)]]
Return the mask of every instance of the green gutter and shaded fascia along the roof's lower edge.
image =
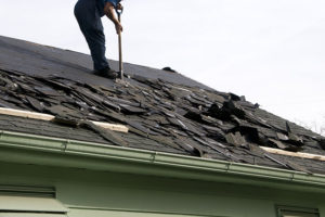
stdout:
[(324, 191), (325, 176), (101, 143), (0, 131), (1, 162)]

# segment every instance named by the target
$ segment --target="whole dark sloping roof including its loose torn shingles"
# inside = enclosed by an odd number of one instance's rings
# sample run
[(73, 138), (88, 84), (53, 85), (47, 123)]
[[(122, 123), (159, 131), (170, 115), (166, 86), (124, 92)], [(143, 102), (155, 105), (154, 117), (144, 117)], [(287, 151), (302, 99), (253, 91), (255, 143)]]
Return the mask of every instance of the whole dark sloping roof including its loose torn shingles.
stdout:
[[(114, 68), (117, 63), (112, 61)], [(127, 82), (92, 75), (89, 55), (0, 37), (0, 106), (53, 122), (0, 115), (0, 129), (107, 145), (325, 174), (322, 136), (179, 73), (126, 64)], [(128, 133), (88, 120), (126, 125)]]

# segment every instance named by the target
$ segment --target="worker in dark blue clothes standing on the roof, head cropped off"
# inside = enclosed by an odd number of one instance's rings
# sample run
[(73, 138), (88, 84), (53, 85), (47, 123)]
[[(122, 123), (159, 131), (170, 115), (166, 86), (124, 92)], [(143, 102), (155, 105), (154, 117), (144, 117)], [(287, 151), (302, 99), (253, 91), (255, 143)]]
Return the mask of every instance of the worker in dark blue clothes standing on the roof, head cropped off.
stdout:
[(75, 5), (75, 16), (87, 40), (93, 60), (94, 74), (110, 79), (118, 74), (113, 71), (105, 56), (105, 35), (101, 17), (106, 15), (115, 25), (116, 33), (122, 31), (115, 10), (121, 10), (121, 0), (78, 0)]

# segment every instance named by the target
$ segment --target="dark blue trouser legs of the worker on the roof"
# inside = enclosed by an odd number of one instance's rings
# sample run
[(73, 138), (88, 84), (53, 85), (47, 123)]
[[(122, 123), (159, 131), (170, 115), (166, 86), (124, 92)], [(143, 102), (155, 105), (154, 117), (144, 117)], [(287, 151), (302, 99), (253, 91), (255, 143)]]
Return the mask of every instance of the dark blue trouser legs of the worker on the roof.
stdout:
[(105, 35), (94, 0), (79, 0), (75, 15), (89, 46), (95, 71), (109, 68), (105, 58)]

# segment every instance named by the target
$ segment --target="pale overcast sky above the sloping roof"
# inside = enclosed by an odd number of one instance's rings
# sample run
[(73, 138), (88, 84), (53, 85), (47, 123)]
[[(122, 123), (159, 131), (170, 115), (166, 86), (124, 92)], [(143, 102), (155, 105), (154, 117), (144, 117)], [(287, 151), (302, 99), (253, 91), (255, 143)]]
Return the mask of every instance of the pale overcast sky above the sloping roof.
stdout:
[[(0, 0), (0, 35), (89, 53), (76, 0)], [(170, 66), (325, 135), (324, 0), (125, 0), (123, 60)], [(118, 59), (103, 18), (108, 59)], [(323, 130), (323, 131), (322, 131)]]

